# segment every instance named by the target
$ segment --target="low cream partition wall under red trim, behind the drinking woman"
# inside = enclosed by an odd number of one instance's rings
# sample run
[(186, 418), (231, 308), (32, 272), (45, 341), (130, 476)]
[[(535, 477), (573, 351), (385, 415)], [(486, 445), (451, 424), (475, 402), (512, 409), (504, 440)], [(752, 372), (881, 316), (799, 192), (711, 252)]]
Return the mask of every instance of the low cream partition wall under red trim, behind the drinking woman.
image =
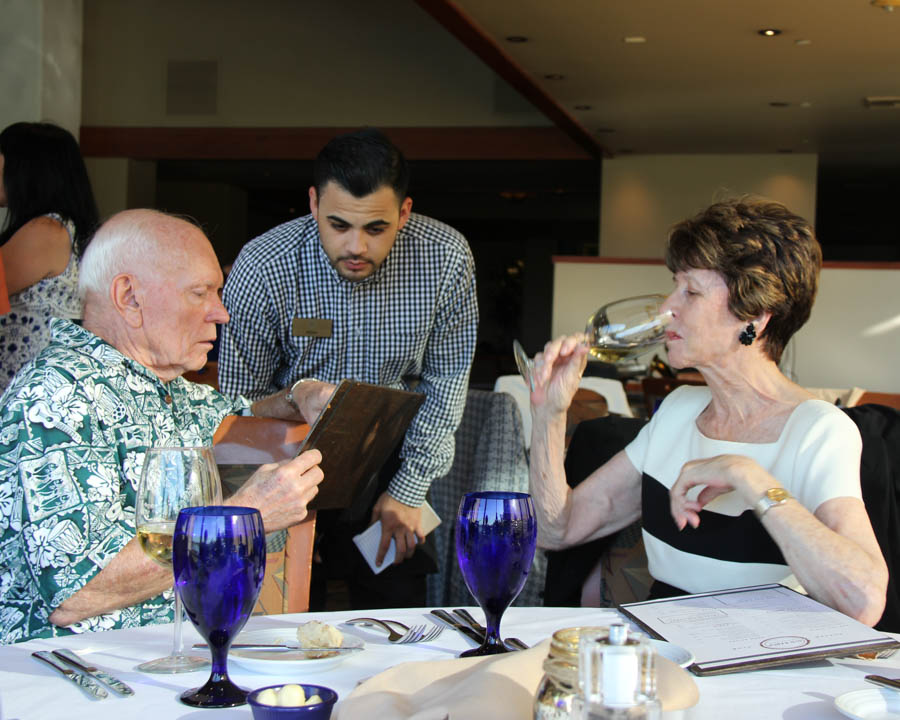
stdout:
[[(606, 302), (671, 287), (661, 264), (557, 262), (552, 335), (584, 330)], [(824, 268), (812, 316), (785, 359), (805, 387), (900, 392), (900, 270)]]

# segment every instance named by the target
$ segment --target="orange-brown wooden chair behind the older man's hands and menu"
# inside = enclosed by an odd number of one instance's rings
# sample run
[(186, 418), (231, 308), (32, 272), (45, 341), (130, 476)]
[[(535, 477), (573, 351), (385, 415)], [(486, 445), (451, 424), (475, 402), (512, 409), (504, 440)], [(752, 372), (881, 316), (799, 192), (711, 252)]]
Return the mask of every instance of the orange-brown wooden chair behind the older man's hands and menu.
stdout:
[[(262, 463), (294, 457), (309, 426), (274, 418), (226, 417), (213, 438), (222, 489), (230, 495)], [(287, 532), (267, 537), (266, 574), (254, 615), (306, 612), (312, 572), (316, 512)]]

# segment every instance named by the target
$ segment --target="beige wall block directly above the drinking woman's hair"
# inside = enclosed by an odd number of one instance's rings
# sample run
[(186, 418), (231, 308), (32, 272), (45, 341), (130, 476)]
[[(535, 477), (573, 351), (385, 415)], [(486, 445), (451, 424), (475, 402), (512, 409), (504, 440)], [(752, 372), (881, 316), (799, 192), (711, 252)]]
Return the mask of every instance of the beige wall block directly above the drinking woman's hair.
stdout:
[(816, 216), (815, 155), (629, 155), (603, 162), (600, 255), (662, 257), (669, 228), (747, 193)]

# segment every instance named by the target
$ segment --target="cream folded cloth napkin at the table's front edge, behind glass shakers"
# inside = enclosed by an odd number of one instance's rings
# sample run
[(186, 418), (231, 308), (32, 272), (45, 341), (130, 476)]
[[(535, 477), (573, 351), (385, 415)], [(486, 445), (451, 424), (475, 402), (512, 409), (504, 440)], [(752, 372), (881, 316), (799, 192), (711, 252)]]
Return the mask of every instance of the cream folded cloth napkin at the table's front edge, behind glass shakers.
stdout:
[[(486, 658), (409, 662), (369, 678), (336, 707), (335, 720), (521, 720), (544, 675), (550, 648), (545, 640), (529, 650)], [(657, 688), (663, 710), (696, 704), (693, 678), (657, 657)]]

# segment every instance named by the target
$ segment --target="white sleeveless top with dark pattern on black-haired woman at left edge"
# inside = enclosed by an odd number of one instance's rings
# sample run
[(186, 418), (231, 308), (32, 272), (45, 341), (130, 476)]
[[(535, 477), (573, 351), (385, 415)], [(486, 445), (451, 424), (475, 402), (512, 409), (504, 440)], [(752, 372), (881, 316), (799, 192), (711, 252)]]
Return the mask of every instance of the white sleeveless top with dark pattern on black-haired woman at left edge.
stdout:
[(45, 217), (53, 218), (69, 233), (69, 264), (59, 275), (9, 296), (10, 311), (0, 315), (0, 392), (6, 390), (19, 368), (50, 342), (51, 318), (81, 319), (75, 224), (56, 213)]

